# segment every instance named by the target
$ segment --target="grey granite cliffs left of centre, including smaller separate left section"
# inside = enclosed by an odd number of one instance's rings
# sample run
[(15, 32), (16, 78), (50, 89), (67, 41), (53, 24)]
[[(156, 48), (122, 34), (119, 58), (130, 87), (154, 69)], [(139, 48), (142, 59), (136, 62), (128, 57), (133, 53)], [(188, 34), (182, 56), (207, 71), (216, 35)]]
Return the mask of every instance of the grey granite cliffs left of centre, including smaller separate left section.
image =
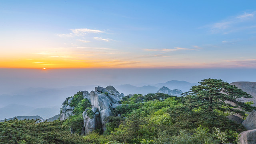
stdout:
[[(120, 98), (122, 98), (124, 94), (120, 94), (113, 86), (108, 86), (107, 88), (110, 91), (100, 86), (96, 87), (95, 91), (91, 91), (90, 93), (83, 91), (84, 99), (88, 99), (92, 105), (92, 109), (85, 109), (83, 112), (84, 125), (81, 126), (83, 127), (81, 134), (92, 132), (98, 128), (104, 132), (106, 130), (108, 117), (117, 116), (117, 114), (114, 113), (114, 109), (116, 108), (116, 104), (121, 104)], [(66, 120), (69, 116), (74, 115), (74, 107), (70, 106), (73, 98), (74, 97), (69, 98), (67, 104), (62, 106), (60, 120)]]

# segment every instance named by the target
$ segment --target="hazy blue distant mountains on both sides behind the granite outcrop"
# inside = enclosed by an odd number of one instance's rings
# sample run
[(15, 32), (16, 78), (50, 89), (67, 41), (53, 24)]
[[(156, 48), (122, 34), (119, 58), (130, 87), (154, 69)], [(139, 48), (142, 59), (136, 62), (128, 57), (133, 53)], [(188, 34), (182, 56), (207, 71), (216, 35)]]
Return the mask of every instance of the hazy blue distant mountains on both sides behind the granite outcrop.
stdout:
[[(191, 84), (186, 81), (171, 80), (166, 83), (153, 84), (152, 86), (132, 86), (123, 84), (114, 86), (120, 93), (128, 94), (148, 94), (156, 93), (162, 86), (170, 89), (179, 89), (187, 92)], [(25, 88), (13, 90), (12, 94), (0, 95), (0, 120), (15, 116), (39, 115), (44, 119), (59, 114), (62, 102), (69, 96), (74, 96), (78, 91), (94, 90), (96, 85), (70, 86), (65, 88)]]

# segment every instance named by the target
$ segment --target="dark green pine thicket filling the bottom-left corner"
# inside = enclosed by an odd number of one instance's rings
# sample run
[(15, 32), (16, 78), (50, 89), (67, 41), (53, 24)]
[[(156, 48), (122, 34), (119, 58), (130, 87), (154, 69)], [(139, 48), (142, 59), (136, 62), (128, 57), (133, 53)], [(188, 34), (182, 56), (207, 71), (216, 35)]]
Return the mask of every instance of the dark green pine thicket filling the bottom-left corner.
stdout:
[(0, 123), (0, 144), (84, 144), (82, 136), (70, 134), (62, 122), (9, 120)]

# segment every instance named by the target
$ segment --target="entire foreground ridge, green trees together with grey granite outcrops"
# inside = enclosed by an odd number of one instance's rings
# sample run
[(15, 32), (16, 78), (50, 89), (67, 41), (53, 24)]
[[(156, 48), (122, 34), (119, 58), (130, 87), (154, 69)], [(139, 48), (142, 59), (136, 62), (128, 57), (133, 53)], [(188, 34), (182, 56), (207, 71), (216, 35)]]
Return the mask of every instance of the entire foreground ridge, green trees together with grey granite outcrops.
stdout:
[(256, 143), (256, 129), (250, 130), (256, 126), (255, 107), (238, 100), (251, 96), (222, 80), (202, 80), (180, 97), (150, 93), (120, 99), (118, 94), (112, 86), (78, 92), (63, 102), (62, 121), (2, 122), (0, 143)]

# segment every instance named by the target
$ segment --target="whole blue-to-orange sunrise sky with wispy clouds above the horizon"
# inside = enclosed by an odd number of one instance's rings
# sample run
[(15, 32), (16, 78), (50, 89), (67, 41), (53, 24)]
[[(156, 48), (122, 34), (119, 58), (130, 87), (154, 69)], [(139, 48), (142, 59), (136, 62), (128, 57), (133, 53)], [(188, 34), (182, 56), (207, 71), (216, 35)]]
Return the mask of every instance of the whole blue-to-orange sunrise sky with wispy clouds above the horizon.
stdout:
[(256, 68), (254, 0), (0, 0), (0, 68)]

